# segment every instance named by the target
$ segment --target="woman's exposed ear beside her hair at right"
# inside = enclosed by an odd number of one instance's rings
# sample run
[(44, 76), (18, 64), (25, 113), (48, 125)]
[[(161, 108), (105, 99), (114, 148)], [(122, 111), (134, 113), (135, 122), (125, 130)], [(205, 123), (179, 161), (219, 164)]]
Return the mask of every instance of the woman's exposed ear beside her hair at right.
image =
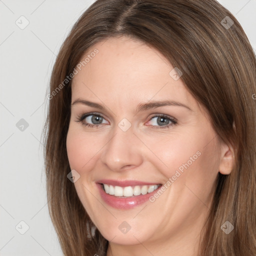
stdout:
[(227, 145), (225, 142), (221, 141), (221, 158), (219, 163), (219, 172), (221, 174), (227, 175), (233, 169), (234, 166), (234, 150), (231, 145)]

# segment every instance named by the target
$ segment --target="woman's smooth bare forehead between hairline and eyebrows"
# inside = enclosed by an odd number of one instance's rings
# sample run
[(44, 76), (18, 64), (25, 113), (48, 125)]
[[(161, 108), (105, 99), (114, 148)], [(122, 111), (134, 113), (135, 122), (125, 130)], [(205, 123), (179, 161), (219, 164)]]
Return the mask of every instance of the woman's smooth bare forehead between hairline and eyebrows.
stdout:
[(196, 103), (183, 81), (171, 76), (174, 68), (171, 63), (159, 51), (139, 40), (108, 38), (93, 44), (80, 61), (84, 63), (80, 70), (76, 68), (72, 98), (84, 95), (107, 100), (111, 96), (123, 103), (124, 98), (130, 103), (151, 98)]

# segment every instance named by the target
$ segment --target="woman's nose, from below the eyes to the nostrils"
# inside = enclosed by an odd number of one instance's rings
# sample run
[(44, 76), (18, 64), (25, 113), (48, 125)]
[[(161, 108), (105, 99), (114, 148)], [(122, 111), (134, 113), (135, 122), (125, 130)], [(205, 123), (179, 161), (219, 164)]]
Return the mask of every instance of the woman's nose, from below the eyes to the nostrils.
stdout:
[(117, 125), (103, 147), (101, 161), (112, 171), (122, 171), (139, 166), (142, 163), (142, 143), (133, 134), (132, 126), (121, 130)]

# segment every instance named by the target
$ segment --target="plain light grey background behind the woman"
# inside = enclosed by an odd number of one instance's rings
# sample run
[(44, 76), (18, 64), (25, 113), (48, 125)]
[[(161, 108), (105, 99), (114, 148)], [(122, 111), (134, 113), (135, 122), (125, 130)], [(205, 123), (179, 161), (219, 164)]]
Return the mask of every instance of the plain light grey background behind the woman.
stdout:
[[(0, 0), (0, 255), (62, 255), (48, 214), (45, 94), (58, 49), (94, 0)], [(256, 0), (219, 0), (256, 51)], [(25, 19), (29, 24), (25, 24)], [(20, 21), (20, 19), (22, 19)], [(19, 26), (15, 21), (19, 22)], [(21, 24), (22, 23), (22, 24)], [(16, 126), (25, 119), (28, 127)], [(28, 230), (24, 234), (20, 232)], [(71, 255), (70, 255), (71, 256)]]

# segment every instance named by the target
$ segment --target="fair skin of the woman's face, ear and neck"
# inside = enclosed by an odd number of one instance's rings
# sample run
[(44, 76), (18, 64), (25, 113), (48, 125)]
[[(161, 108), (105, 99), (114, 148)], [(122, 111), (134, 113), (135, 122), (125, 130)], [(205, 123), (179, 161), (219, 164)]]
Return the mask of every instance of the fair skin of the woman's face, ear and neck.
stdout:
[[(105, 107), (71, 105), (66, 147), (70, 168), (80, 175), (74, 182), (77, 195), (109, 241), (107, 256), (196, 255), (217, 174), (230, 173), (233, 150), (219, 139), (182, 80), (169, 75), (173, 66), (160, 52), (121, 36), (97, 42), (81, 59), (95, 48), (99, 52), (72, 80), (71, 102), (80, 98)], [(141, 102), (166, 99), (191, 110), (169, 105), (136, 111)], [(98, 127), (84, 125), (93, 124), (95, 116), (77, 121), (92, 111), (104, 117)], [(154, 114), (177, 123), (161, 128), (157, 117), (151, 119)], [(127, 131), (118, 127), (123, 118), (131, 124)], [(164, 125), (171, 123), (167, 119)], [(154, 202), (123, 210), (99, 195), (95, 181), (103, 178), (164, 184), (197, 151), (200, 156)], [(123, 221), (131, 227), (125, 234), (118, 228)]]

